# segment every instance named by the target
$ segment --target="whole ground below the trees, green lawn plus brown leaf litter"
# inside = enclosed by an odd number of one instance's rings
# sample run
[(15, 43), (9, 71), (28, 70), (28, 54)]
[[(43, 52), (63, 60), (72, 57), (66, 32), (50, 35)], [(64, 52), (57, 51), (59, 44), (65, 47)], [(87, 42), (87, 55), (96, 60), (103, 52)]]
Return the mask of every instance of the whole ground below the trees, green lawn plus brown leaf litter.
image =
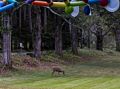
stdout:
[[(120, 89), (120, 53), (80, 50), (63, 57), (53, 52), (43, 54), (41, 61), (14, 55), (14, 69), (0, 72), (0, 89)], [(59, 66), (65, 75), (51, 75)]]

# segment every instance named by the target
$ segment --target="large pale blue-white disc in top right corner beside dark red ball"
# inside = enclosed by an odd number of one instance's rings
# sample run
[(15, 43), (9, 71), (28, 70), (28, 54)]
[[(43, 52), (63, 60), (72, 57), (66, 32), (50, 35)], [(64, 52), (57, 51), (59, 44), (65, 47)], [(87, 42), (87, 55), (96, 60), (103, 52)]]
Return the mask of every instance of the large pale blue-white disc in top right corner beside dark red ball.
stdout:
[(106, 10), (109, 12), (115, 12), (120, 7), (120, 1), (119, 0), (109, 0), (109, 4), (105, 7)]

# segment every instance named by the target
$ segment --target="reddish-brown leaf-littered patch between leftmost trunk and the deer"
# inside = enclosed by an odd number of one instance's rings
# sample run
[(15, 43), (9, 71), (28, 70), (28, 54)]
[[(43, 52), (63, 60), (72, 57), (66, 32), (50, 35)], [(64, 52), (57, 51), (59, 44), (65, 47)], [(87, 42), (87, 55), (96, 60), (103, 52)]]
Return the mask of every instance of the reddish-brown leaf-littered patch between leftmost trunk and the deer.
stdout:
[(13, 66), (25, 70), (51, 70), (53, 66), (61, 66), (61, 64), (51, 61), (36, 60), (30, 56), (13, 56)]

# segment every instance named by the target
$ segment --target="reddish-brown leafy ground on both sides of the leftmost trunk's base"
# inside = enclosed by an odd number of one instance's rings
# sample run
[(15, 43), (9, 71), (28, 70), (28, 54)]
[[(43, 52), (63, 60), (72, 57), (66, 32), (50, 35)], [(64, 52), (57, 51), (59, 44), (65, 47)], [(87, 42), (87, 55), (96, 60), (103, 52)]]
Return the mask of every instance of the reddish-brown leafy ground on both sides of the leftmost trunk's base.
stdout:
[[(32, 70), (37, 70), (37, 71), (48, 71), (52, 70), (53, 67), (59, 66), (61, 67), (61, 64), (57, 64), (54, 62), (50, 61), (39, 61), (36, 60), (35, 58), (32, 58), (30, 56), (12, 56), (12, 66), (15, 70), (26, 70), (26, 71), (32, 71)], [(4, 69), (3, 66), (0, 67), (0, 75), (4, 76), (9, 74), (14, 70), (11, 69)]]

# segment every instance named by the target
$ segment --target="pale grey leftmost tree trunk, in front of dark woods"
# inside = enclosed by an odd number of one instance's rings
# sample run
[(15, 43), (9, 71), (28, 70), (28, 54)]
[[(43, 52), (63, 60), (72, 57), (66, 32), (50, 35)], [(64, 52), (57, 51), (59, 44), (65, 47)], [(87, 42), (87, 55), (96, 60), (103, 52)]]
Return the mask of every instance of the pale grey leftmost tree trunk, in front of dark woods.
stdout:
[(10, 16), (3, 16), (3, 64), (7, 68), (12, 68), (11, 60), (11, 32), (10, 32)]

